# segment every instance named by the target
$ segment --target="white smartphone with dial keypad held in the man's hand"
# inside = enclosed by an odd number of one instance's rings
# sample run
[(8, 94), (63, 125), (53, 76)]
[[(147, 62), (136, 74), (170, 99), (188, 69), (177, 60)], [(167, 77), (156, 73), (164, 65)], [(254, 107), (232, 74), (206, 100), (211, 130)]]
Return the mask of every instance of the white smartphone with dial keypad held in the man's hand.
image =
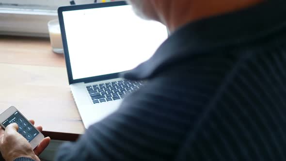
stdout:
[(18, 132), (31, 144), (32, 149), (37, 147), (44, 139), (44, 135), (35, 128), (26, 117), (23, 116), (14, 106), (9, 107), (0, 114), (0, 126), (6, 128), (9, 124), (18, 124)]

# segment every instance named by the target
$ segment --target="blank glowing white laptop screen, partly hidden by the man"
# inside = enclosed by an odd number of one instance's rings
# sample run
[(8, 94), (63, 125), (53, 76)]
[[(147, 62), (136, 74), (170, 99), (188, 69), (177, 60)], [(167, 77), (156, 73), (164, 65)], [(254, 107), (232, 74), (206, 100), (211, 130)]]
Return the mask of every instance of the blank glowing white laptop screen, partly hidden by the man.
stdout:
[(130, 5), (64, 11), (73, 79), (130, 70), (166, 40), (166, 27), (136, 16)]

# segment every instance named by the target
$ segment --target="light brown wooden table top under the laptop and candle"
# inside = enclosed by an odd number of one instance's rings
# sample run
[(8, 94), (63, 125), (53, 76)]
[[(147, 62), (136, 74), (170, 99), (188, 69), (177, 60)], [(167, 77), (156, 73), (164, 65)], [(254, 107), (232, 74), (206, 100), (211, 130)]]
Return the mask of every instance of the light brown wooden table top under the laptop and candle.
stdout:
[(0, 113), (12, 105), (51, 139), (76, 140), (85, 130), (64, 55), (53, 53), (48, 39), (0, 36)]

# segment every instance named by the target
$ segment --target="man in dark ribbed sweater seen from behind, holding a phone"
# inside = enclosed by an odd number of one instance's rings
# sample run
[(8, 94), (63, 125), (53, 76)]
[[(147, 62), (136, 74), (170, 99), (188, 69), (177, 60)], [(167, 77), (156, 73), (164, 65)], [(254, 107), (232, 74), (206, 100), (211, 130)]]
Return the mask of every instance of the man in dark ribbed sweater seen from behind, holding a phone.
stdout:
[[(123, 74), (146, 85), (56, 160), (286, 161), (286, 1), (129, 2), (171, 35)], [(48, 139), (33, 152), (16, 128), (4, 158), (37, 160)]]

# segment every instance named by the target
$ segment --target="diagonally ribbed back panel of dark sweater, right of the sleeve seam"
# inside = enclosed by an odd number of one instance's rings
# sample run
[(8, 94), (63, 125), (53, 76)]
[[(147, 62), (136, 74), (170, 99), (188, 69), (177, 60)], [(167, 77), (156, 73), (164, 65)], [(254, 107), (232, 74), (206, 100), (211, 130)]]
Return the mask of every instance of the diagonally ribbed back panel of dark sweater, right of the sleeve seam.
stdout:
[(286, 46), (248, 53), (224, 81), (176, 159), (286, 161)]

